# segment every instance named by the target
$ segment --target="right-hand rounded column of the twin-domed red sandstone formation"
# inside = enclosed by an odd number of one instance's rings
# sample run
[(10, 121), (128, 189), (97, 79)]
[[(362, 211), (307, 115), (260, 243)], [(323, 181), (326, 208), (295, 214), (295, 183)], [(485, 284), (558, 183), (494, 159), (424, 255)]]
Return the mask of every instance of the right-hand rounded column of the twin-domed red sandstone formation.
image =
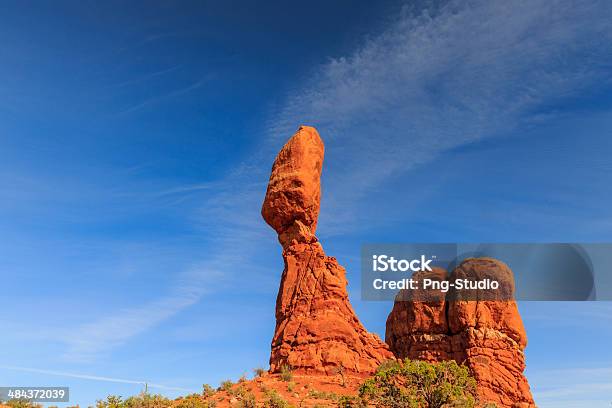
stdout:
[[(453, 349), (478, 382), (483, 401), (501, 407), (533, 406), (529, 383), (523, 375), (527, 334), (513, 299), (514, 277), (506, 264), (492, 258), (467, 259), (451, 274), (455, 278), (493, 278), (500, 282), (501, 297), (491, 300), (486, 292), (479, 300), (452, 301), (448, 322)], [(484, 300), (480, 300), (484, 299)]]

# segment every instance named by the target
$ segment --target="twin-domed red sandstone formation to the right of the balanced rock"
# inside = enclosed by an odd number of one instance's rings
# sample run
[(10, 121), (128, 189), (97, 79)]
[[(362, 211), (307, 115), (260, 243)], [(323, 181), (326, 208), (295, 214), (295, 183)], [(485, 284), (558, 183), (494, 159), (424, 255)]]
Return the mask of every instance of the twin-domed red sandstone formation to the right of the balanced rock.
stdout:
[[(446, 279), (446, 272), (434, 269), (413, 278)], [(500, 289), (478, 291), (461, 299), (453, 290), (427, 293), (427, 297), (406, 301), (400, 292), (387, 319), (386, 341), (398, 358), (430, 362), (454, 359), (466, 364), (477, 381), (482, 402), (498, 407), (533, 407), (525, 370), (527, 335), (513, 300), (514, 277), (506, 264), (492, 258), (470, 258), (448, 278), (495, 279)], [(437, 296), (437, 297), (436, 297)]]

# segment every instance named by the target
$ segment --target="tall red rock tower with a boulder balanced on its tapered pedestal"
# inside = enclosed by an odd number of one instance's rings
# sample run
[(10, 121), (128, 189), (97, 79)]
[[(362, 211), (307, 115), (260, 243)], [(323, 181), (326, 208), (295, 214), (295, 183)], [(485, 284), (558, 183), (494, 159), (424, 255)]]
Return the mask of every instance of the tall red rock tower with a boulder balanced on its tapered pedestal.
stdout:
[(342, 367), (371, 373), (393, 354), (357, 319), (345, 270), (315, 236), (321, 197), (323, 141), (302, 126), (281, 149), (261, 210), (283, 247), (285, 269), (276, 299), (270, 371), (332, 374)]

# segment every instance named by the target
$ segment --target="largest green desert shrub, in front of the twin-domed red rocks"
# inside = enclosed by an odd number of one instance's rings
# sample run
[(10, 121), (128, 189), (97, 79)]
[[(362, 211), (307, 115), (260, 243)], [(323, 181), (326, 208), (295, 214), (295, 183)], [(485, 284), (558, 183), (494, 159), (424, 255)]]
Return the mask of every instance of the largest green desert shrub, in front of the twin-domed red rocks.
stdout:
[(359, 389), (360, 397), (378, 408), (473, 408), (476, 381), (455, 361), (385, 363)]

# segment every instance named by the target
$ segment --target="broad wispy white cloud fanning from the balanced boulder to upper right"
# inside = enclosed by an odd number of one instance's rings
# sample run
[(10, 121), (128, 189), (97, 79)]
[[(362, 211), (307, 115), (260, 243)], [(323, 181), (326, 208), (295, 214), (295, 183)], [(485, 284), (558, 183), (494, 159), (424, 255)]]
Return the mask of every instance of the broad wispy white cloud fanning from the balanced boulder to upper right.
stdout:
[(609, 2), (425, 4), (324, 64), (271, 119), (276, 144), (299, 123), (325, 138), (327, 223), (345, 223), (351, 203), (391, 176), (555, 120), (556, 104), (611, 84)]

